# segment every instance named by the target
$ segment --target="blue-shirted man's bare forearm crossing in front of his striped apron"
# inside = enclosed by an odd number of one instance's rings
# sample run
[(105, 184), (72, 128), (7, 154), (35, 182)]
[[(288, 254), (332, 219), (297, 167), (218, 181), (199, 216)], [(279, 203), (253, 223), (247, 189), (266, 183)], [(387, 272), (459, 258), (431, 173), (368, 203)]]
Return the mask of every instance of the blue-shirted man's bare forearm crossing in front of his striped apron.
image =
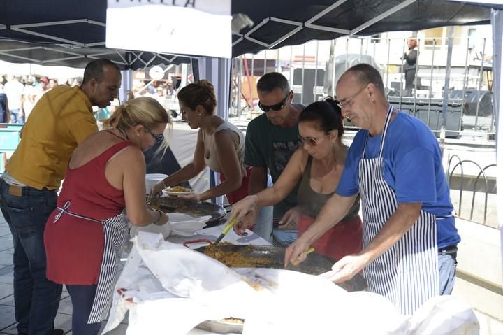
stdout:
[(367, 248), (360, 252), (360, 255), (367, 258), (367, 264), (397, 243), (418, 220), (420, 213), (421, 203), (398, 205), (397, 210), (384, 224), (379, 234), (370, 241)]

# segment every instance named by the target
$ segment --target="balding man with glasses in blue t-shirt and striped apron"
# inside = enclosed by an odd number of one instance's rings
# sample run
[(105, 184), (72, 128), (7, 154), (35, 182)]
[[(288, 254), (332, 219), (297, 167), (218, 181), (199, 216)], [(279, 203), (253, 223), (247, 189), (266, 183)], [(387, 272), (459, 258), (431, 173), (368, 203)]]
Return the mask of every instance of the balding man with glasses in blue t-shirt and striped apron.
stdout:
[(347, 70), (336, 91), (342, 115), (362, 129), (335, 194), (286, 251), (285, 262), (305, 258), (359, 192), (364, 248), (335, 263), (328, 278), (342, 282), (363, 270), (372, 292), (412, 314), (430, 297), (451, 293), (460, 242), (437, 139), (421, 120), (386, 101), (381, 75), (369, 64)]

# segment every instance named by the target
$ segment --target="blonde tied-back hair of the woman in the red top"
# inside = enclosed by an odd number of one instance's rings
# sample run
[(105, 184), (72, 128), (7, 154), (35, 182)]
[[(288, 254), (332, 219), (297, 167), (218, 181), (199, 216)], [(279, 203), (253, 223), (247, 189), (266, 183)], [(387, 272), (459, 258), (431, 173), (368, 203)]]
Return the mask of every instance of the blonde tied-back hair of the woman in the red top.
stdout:
[[(139, 97), (128, 100), (115, 109), (113, 115), (103, 121), (103, 128), (117, 128), (126, 131), (131, 127), (142, 124), (143, 127), (153, 129), (161, 123), (168, 124), (171, 128), (171, 117), (159, 101), (150, 97)], [(159, 151), (166, 151), (168, 142), (166, 139), (159, 146)]]

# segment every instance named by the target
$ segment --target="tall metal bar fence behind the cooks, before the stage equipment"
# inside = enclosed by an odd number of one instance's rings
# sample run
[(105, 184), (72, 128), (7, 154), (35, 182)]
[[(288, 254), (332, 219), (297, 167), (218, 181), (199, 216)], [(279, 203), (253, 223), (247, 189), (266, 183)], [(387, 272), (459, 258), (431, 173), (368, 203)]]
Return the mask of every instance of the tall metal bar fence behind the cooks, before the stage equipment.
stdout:
[[(456, 27), (457, 28), (457, 27)], [(231, 115), (252, 118), (258, 111), (256, 80), (263, 73), (282, 72), (289, 79), (294, 101), (310, 104), (335, 95), (335, 83), (349, 67), (360, 62), (374, 65), (383, 76), (388, 99), (401, 109), (430, 120), (440, 117), (451, 137), (495, 134), (490, 40), (479, 38), (417, 38), (418, 57), (414, 87), (404, 87), (403, 52), (408, 38), (338, 38), (304, 45), (265, 50), (233, 60)], [(447, 87), (444, 90), (444, 87)], [(450, 107), (450, 108), (449, 108)], [(451, 120), (444, 115), (451, 111)], [(447, 112), (447, 113), (446, 113)], [(443, 114), (442, 114), (443, 113)]]

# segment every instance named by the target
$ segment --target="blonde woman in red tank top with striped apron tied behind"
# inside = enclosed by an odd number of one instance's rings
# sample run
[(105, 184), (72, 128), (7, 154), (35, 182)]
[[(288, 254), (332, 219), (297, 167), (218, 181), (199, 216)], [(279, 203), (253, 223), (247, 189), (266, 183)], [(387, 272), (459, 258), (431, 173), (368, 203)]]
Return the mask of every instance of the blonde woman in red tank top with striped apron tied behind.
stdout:
[(143, 157), (156, 143), (166, 148), (168, 124), (168, 113), (155, 99), (132, 99), (73, 152), (44, 237), (47, 277), (68, 289), (75, 335), (98, 334), (108, 314), (129, 222), (168, 222), (165, 213), (145, 204)]

